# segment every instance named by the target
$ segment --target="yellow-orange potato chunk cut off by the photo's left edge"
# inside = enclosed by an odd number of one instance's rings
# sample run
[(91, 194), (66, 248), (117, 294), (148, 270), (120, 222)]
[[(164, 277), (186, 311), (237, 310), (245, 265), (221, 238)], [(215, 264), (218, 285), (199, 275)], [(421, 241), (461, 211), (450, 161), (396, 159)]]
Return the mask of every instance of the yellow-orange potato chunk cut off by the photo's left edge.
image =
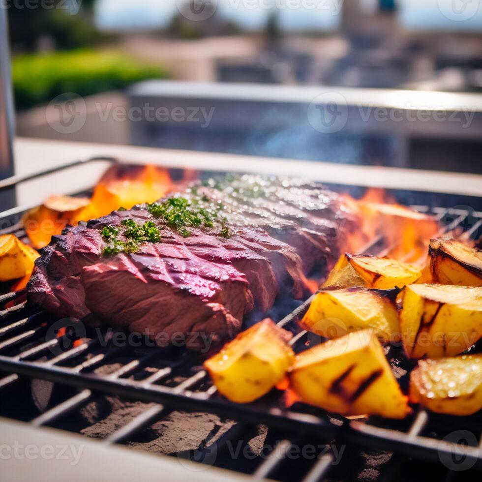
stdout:
[(39, 254), (13, 234), (0, 236), (0, 281), (22, 278), (33, 271)]

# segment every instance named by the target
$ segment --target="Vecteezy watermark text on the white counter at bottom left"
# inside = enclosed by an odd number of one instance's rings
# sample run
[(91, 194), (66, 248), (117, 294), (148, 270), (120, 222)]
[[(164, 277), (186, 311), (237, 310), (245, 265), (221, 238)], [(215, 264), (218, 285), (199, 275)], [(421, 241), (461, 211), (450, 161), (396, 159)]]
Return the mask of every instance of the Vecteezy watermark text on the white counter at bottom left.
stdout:
[(37, 460), (39, 458), (44, 460), (67, 460), (73, 467), (79, 463), (84, 449), (85, 445), (83, 444), (78, 446), (74, 444), (24, 445), (20, 441), (15, 440), (11, 445), (0, 445), (0, 460)]

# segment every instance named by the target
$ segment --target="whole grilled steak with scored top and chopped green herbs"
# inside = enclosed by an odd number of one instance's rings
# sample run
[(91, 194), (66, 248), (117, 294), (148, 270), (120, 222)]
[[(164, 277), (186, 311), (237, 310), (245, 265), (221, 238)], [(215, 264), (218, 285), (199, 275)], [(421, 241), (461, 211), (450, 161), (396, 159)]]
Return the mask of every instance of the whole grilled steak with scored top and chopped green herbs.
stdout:
[(336, 195), (292, 189), (259, 177), (208, 182), (68, 227), (37, 260), (29, 300), (159, 344), (179, 332), (232, 337), (253, 307), (301, 297), (303, 269), (325, 269), (340, 249), (332, 231), (355, 224)]

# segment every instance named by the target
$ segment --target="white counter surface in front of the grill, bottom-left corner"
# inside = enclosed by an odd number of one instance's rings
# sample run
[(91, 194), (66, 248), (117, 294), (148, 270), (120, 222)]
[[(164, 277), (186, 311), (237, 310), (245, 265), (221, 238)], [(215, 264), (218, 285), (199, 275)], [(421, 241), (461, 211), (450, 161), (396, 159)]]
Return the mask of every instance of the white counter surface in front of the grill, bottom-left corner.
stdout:
[(82, 435), (0, 418), (0, 480), (9, 482), (247, 481), (177, 457), (109, 446)]

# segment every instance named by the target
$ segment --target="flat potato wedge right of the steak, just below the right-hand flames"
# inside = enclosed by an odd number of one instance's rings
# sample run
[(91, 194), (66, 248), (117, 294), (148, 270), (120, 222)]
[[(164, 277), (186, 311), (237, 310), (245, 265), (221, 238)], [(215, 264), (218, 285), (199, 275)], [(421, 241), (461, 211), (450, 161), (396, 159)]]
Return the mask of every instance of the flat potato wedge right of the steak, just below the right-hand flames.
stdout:
[(345, 253), (336, 262), (323, 287), (362, 286), (389, 290), (414, 283), (421, 274), (419, 268), (401, 261)]

